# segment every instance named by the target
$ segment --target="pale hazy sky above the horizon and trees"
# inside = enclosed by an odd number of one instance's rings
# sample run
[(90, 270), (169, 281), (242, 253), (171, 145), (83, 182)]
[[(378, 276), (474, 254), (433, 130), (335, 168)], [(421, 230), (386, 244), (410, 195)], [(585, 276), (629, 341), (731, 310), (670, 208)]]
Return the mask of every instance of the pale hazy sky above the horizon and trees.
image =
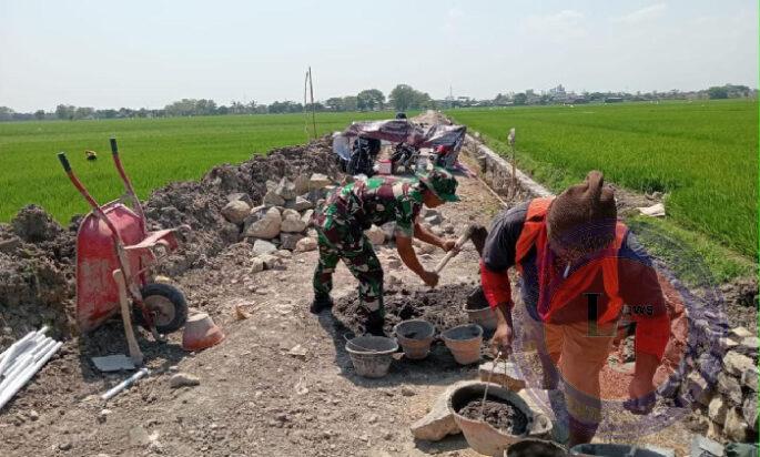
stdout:
[(754, 0), (0, 0), (0, 105), (758, 87)]

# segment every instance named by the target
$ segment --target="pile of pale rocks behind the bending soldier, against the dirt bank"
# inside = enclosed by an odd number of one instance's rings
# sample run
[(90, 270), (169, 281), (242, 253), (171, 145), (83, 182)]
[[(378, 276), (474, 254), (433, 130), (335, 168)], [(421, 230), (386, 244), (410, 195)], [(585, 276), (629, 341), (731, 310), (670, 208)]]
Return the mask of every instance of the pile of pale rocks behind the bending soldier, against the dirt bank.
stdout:
[[(253, 244), (253, 253), (262, 260), (261, 270), (271, 268), (281, 251), (306, 252), (316, 248), (316, 235), (307, 231), (314, 207), (334, 190), (324, 174), (298, 175), (278, 182), (267, 181), (267, 192), (254, 206), (245, 193), (227, 195), (222, 215), (239, 228), (239, 240)], [(276, 257), (282, 257), (278, 255)], [(271, 262), (267, 262), (271, 260)]]

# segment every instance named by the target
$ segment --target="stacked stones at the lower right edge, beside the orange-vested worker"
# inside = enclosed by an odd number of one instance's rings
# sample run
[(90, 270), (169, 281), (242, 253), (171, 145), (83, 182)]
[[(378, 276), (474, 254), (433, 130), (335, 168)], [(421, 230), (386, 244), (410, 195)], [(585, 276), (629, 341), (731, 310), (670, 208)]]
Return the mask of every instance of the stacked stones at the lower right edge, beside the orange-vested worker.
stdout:
[(663, 385), (661, 394), (693, 408), (708, 438), (752, 441), (758, 435), (760, 338), (744, 327), (717, 333), (705, 319), (693, 324), (698, 337), (693, 343), (689, 338), (682, 380), (675, 387)]

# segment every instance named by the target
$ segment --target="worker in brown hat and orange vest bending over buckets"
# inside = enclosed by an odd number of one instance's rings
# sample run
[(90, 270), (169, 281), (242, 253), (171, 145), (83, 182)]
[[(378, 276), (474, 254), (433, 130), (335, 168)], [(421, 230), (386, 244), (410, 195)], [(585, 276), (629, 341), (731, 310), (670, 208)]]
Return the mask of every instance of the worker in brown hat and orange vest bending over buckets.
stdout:
[[(527, 317), (514, 322), (507, 270), (520, 273)], [(665, 298), (650, 260), (617, 221), (614, 190), (600, 172), (555, 199), (499, 214), (480, 263), (484, 294), (497, 316), (494, 351), (510, 351), (514, 328), (536, 344), (544, 388), (564, 380), (570, 445), (589, 443), (600, 422), (599, 373), (622, 315), (636, 323), (636, 372), (628, 393), (651, 408), (655, 370), (670, 335)], [(624, 306), (629, 305), (629, 306)]]

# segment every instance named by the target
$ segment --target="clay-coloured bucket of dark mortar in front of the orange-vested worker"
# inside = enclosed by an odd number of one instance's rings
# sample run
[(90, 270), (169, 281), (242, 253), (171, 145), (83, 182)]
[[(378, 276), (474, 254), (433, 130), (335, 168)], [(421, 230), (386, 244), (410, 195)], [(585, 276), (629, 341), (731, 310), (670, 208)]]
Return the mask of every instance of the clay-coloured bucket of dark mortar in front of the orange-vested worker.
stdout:
[[(510, 435), (484, 420), (474, 420), (459, 415), (458, 412), (469, 402), (483, 398), (486, 386), (488, 386), (488, 397), (509, 402), (527, 416), (528, 424), (525, 434)], [(469, 447), (487, 456), (503, 456), (505, 450), (520, 440), (548, 438), (551, 434), (551, 420), (545, 414), (530, 409), (519, 395), (493, 383), (472, 384), (454, 390), (448, 398), (448, 408), (454, 412), (454, 422), (459, 426)]]

